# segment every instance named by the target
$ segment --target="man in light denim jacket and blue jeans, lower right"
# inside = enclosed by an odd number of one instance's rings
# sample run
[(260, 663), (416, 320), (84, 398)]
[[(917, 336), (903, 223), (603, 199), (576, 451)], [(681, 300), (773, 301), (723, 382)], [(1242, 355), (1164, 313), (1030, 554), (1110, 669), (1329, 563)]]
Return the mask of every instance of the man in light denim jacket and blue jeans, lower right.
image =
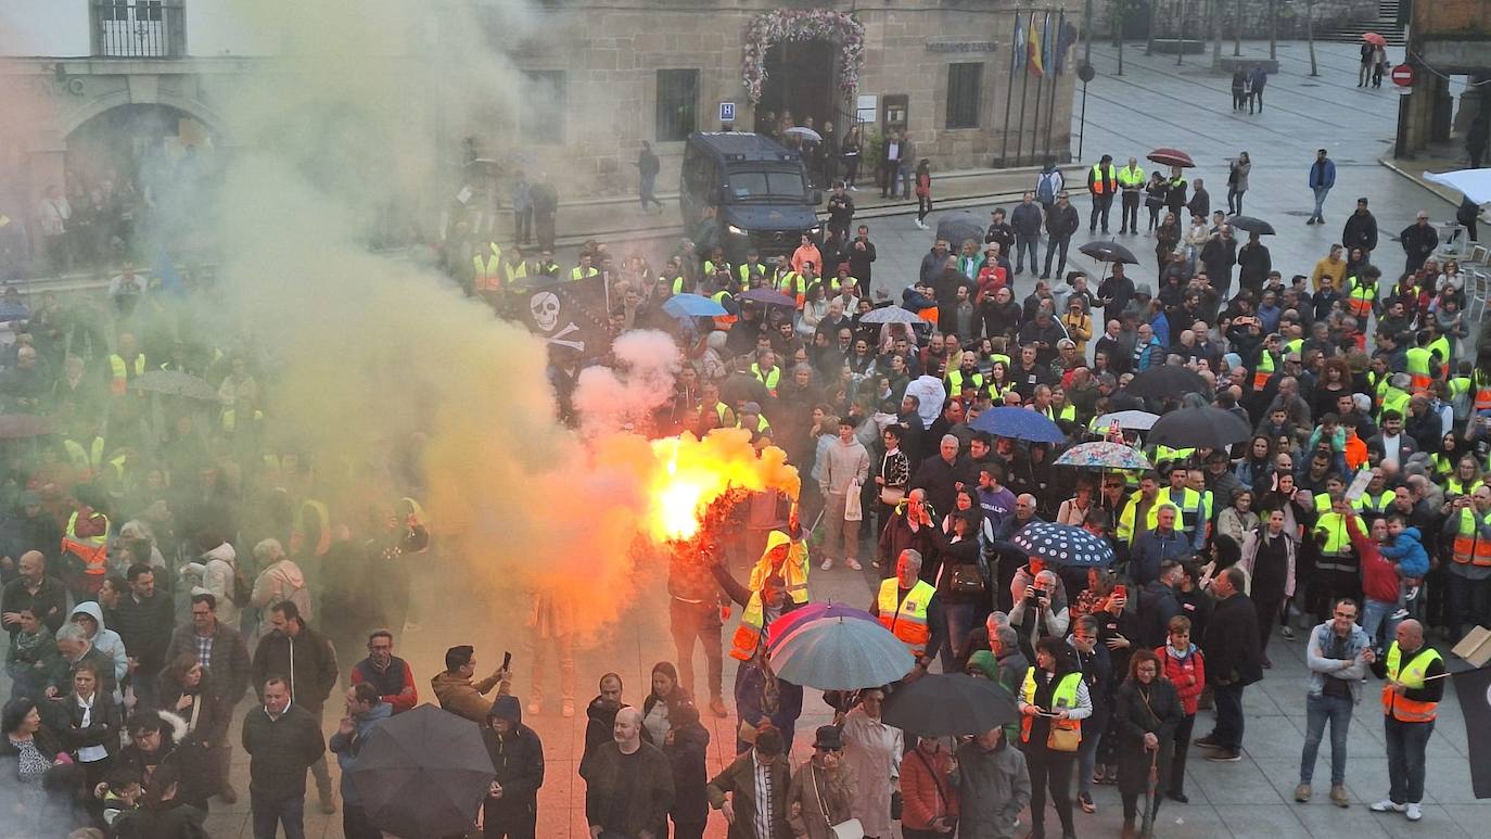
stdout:
[(1355, 601), (1340, 598), (1331, 607), (1331, 618), (1309, 636), (1305, 651), (1305, 666), (1309, 668), (1305, 751), (1300, 754), (1300, 785), (1294, 787), (1294, 800), (1300, 803), (1311, 797), (1315, 756), (1325, 723), (1330, 723), (1330, 802), (1339, 808), (1351, 806), (1351, 796), (1346, 794), (1346, 732), (1351, 730), (1351, 711), (1361, 700), (1361, 677), (1376, 660), (1366, 630), (1357, 626), (1358, 611)]

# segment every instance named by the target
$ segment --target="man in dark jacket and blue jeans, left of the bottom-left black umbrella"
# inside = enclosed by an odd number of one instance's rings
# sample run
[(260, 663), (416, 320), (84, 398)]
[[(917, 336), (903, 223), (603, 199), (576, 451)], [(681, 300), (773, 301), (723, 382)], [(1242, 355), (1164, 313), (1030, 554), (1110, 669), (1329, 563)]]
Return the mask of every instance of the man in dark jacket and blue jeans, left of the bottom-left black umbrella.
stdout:
[(289, 700), (280, 677), (264, 681), (264, 706), (243, 718), (243, 751), (249, 753), (249, 799), (253, 839), (306, 836), (306, 770), (327, 753), (321, 721)]

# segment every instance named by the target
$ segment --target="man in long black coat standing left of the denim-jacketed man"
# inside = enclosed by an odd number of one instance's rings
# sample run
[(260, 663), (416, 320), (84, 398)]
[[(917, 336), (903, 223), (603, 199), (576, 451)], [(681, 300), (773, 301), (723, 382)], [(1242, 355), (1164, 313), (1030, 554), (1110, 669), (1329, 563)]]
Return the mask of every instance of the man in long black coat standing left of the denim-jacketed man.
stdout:
[(1242, 759), (1242, 688), (1263, 678), (1258, 650), (1258, 612), (1243, 593), (1248, 575), (1238, 566), (1212, 580), (1217, 608), (1206, 624), (1202, 651), (1206, 654), (1206, 681), (1217, 702), (1217, 727), (1196, 741), (1215, 750), (1206, 760), (1235, 763)]

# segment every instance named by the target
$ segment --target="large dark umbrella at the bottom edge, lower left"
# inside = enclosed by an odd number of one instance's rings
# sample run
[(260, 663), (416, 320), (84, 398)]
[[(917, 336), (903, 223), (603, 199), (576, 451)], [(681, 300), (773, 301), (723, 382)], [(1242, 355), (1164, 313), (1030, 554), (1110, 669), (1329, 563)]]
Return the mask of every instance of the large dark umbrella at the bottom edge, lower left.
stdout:
[(495, 778), (482, 729), (434, 705), (374, 726), (350, 775), (368, 821), (409, 838), (465, 835)]

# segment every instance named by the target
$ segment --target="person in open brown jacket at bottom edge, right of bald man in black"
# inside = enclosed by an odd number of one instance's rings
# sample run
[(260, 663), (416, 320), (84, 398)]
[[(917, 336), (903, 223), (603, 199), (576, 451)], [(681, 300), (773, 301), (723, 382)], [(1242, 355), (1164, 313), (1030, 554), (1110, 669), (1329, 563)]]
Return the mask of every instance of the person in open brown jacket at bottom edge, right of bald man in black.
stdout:
[[(705, 787), (710, 806), (723, 812), (725, 821), (731, 823), (729, 839), (759, 839), (762, 835), (756, 824), (762, 818), (771, 820), (771, 839), (792, 839), (792, 827), (787, 824), (792, 764), (783, 754), (783, 742), (781, 732), (775, 727), (756, 729), (756, 745)], [(762, 791), (763, 796), (759, 794)]]

